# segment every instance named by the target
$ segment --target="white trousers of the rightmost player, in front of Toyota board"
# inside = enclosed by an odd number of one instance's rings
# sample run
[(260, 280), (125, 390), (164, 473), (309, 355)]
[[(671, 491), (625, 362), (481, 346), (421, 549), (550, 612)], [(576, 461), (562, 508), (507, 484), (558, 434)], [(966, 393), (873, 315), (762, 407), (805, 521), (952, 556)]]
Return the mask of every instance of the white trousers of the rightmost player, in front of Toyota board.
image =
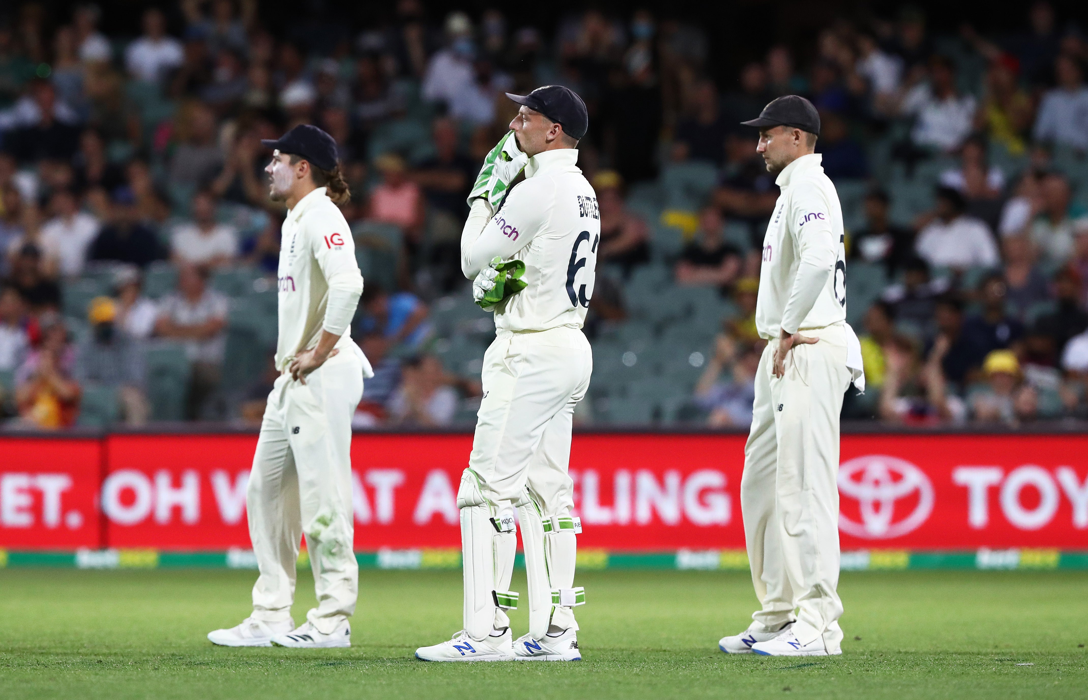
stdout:
[(763, 608), (752, 617), (777, 628), (794, 618), (803, 643), (839, 647), (839, 413), (850, 384), (842, 324), (801, 330), (777, 378), (767, 343), (755, 375), (752, 430), (744, 447), (741, 511), (752, 583)]

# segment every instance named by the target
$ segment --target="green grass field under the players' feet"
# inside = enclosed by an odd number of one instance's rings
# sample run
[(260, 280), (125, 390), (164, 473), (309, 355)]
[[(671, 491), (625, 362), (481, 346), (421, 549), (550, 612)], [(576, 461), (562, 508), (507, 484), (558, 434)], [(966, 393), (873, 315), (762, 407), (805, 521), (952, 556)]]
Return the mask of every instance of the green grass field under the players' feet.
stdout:
[[(362, 572), (351, 649), (224, 649), (252, 572), (0, 570), (0, 697), (1085, 698), (1088, 573), (844, 574), (838, 658), (728, 657), (755, 603), (746, 574), (579, 575), (580, 663), (438, 664), (460, 627), (458, 572)], [(312, 603), (299, 576), (295, 620)], [(521, 588), (518, 588), (521, 586)], [(515, 573), (524, 590), (524, 573)], [(514, 614), (515, 635), (528, 615)], [(1028, 664), (1028, 665), (1025, 665)]]

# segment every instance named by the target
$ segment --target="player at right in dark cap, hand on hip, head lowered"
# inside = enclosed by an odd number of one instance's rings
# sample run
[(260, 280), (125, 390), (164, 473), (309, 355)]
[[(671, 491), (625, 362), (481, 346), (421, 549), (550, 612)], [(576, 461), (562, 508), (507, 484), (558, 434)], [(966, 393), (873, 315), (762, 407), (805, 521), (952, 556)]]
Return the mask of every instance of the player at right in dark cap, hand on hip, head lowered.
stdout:
[(787, 96), (759, 118), (758, 152), (781, 193), (763, 242), (756, 328), (768, 340), (755, 377), (741, 511), (762, 608), (727, 653), (841, 653), (839, 414), (861, 347), (846, 324), (842, 209), (814, 153), (819, 116)]

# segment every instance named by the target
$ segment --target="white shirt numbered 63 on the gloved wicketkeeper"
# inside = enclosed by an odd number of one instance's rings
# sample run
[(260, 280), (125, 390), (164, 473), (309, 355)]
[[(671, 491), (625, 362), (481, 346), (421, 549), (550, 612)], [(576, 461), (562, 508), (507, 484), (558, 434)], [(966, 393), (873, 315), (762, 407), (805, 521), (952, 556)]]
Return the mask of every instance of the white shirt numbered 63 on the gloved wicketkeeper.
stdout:
[(495, 307), (499, 330), (581, 328), (585, 323), (601, 212), (577, 162), (578, 150), (570, 148), (534, 155), (526, 165), (526, 179), (510, 189), (483, 230), (473, 237), (466, 227), (461, 270), (467, 277), (475, 277), (495, 255), (526, 263), (521, 279), (528, 286)]

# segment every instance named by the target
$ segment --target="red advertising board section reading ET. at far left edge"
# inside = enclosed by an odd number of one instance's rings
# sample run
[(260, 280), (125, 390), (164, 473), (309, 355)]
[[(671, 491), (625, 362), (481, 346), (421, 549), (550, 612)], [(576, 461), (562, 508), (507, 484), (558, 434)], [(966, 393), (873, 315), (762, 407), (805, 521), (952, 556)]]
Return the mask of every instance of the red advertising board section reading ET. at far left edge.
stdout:
[(97, 439), (0, 440), (0, 548), (98, 547)]

